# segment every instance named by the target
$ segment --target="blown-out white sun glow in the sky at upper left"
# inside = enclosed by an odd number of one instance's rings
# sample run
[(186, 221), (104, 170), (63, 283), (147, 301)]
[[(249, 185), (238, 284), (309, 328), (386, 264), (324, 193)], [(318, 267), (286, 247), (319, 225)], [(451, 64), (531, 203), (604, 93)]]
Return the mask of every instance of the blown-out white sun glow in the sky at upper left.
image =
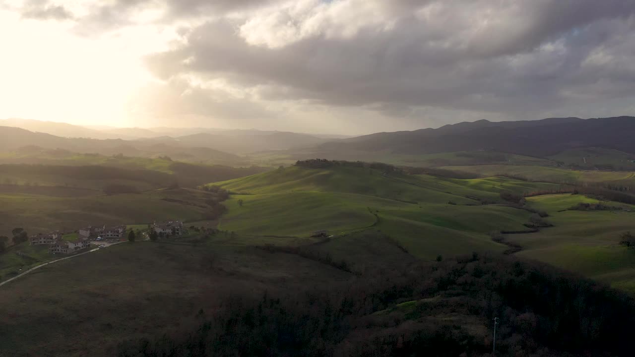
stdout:
[(149, 29), (93, 38), (67, 27), (0, 11), (0, 118), (126, 125), (126, 101), (151, 80), (142, 56), (161, 43)]

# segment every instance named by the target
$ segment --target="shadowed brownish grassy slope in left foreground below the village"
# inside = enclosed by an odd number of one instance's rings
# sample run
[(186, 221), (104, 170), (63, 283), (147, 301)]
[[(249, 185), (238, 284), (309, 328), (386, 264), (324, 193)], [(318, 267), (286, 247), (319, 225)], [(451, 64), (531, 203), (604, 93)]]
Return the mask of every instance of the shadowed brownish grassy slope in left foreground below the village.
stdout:
[(2, 286), (0, 356), (112, 356), (117, 342), (195, 324), (234, 295), (258, 299), (352, 277), (254, 248), (123, 243)]

